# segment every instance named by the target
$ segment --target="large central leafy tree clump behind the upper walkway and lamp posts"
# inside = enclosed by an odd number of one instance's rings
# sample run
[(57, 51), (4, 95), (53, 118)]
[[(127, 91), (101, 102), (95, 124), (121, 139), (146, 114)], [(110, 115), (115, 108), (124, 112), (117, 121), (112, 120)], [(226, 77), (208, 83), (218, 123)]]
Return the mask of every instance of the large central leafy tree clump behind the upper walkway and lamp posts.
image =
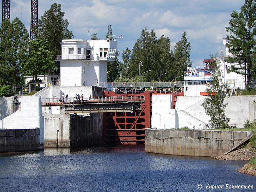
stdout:
[[(149, 81), (158, 81), (159, 75), (166, 72), (170, 67), (170, 39), (169, 37), (161, 36), (157, 39), (154, 30), (147, 31), (145, 27), (139, 39), (136, 40), (130, 60), (130, 74), (129, 77), (139, 75), (139, 63), (143, 61), (141, 67), (141, 74), (145, 71), (151, 70), (150, 73), (145, 74), (145, 79)], [(123, 55), (124, 58), (125, 54)], [(126, 61), (128, 63), (128, 61)], [(164, 76), (162, 80), (168, 81), (169, 76)]]

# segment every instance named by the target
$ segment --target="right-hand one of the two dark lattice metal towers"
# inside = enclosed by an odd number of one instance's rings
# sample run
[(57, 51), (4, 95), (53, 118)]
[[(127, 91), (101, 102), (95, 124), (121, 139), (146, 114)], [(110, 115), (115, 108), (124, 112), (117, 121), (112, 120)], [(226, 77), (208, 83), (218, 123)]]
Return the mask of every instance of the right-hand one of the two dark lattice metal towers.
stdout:
[(30, 41), (36, 39), (38, 30), (38, 0), (31, 0)]

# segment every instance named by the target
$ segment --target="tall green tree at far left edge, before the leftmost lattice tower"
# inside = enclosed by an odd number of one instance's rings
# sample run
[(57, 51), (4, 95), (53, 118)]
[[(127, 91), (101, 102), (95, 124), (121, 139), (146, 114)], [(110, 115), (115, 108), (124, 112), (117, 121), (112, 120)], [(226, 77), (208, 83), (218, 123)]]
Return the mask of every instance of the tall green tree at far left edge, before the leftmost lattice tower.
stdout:
[(28, 51), (29, 35), (23, 23), (16, 17), (12, 23), (4, 20), (0, 29), (0, 84), (18, 84), (21, 79), (21, 63)]

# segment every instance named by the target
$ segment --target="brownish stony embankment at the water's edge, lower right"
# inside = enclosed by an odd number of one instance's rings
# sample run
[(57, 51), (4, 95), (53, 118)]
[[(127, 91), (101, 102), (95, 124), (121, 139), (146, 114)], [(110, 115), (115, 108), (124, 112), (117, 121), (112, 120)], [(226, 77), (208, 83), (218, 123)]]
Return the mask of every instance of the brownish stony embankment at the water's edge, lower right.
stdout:
[[(251, 147), (250, 147), (251, 148)], [(252, 157), (256, 156), (256, 151), (251, 151), (248, 149), (238, 149), (236, 151), (230, 152), (227, 155), (221, 155), (215, 157), (219, 160), (244, 160), (249, 161)], [(249, 175), (256, 176), (256, 167), (254, 165), (250, 165), (249, 163), (245, 164), (244, 167), (237, 169), (238, 172), (246, 173)]]

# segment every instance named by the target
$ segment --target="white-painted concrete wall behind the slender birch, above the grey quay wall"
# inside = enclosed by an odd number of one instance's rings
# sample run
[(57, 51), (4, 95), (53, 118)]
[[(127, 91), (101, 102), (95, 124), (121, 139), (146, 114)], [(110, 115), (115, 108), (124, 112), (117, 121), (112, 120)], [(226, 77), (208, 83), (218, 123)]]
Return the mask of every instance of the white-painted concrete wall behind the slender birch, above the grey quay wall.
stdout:
[[(205, 114), (202, 106), (207, 96), (178, 96), (176, 102), (176, 128), (188, 126), (190, 129), (208, 129), (210, 117)], [(225, 108), (225, 114), (230, 119), (229, 125), (243, 128), (244, 122), (256, 119), (255, 96), (230, 96), (226, 97), (224, 104), (228, 103)], [(156, 106), (157, 108), (157, 106)], [(152, 105), (152, 113), (154, 106)], [(174, 112), (172, 112), (174, 114)], [(161, 114), (162, 115), (162, 114)], [(171, 116), (171, 115), (170, 115)], [(152, 122), (153, 124), (153, 122)], [(199, 125), (201, 124), (201, 125)], [(152, 126), (153, 127), (153, 126)], [(170, 127), (174, 128), (172, 123)], [(160, 129), (158, 122), (157, 128)]]

